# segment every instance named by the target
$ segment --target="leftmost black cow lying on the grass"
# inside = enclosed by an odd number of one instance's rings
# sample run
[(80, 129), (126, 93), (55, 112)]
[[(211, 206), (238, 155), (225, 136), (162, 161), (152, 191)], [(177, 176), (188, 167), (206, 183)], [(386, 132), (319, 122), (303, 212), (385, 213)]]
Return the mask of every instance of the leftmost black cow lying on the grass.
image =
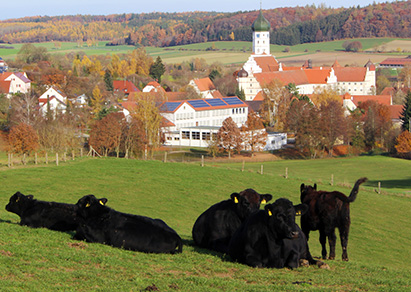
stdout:
[(74, 204), (38, 201), (32, 195), (17, 192), (10, 197), (6, 210), (20, 216), (20, 225), (58, 231), (77, 228), (77, 206)]

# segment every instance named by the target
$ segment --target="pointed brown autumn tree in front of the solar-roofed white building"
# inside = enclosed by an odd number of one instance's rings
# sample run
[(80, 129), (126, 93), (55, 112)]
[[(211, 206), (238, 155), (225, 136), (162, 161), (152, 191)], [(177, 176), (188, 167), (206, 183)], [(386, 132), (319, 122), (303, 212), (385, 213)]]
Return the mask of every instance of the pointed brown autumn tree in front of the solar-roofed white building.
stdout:
[(235, 150), (237, 153), (241, 150), (241, 132), (237, 124), (231, 117), (223, 121), (223, 125), (217, 132), (218, 148), (227, 151), (228, 156)]

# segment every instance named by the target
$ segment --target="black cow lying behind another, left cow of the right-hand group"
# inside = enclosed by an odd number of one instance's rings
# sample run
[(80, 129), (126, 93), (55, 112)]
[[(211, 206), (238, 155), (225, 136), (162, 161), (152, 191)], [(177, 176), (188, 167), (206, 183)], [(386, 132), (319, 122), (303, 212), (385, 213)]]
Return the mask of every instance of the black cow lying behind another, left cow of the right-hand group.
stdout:
[(208, 208), (196, 220), (192, 234), (194, 243), (200, 247), (227, 253), (231, 236), (241, 223), (260, 204), (272, 199), (270, 194), (259, 194), (253, 189), (231, 194), (229, 200)]

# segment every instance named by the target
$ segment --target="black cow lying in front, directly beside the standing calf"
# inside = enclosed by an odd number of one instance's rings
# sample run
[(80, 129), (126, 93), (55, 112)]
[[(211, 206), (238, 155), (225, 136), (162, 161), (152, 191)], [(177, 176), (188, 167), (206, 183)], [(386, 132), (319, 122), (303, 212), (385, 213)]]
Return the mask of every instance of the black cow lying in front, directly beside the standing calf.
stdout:
[(280, 198), (250, 215), (230, 241), (230, 257), (260, 268), (294, 269), (306, 261), (319, 264), (311, 257), (307, 239), (295, 223), (295, 216), (307, 210), (307, 205), (293, 206), (288, 199)]

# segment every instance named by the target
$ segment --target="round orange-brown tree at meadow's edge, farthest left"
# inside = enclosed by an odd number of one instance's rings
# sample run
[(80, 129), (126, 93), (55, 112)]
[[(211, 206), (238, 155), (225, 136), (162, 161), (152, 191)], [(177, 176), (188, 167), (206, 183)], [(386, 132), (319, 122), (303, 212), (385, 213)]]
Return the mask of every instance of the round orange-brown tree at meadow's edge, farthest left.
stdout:
[(30, 154), (38, 148), (38, 135), (32, 126), (19, 123), (9, 134), (9, 145), (13, 153)]

